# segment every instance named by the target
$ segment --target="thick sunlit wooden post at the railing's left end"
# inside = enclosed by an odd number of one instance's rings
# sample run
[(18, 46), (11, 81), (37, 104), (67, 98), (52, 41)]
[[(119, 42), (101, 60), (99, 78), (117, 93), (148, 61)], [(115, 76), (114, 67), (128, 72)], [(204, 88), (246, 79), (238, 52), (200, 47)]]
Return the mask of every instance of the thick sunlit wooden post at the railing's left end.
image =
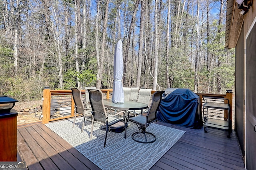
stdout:
[(43, 90), (43, 109), (42, 109), (42, 123), (46, 124), (49, 123), (50, 119), (50, 105), (51, 103), (51, 96), (50, 96), (50, 87), (45, 86)]

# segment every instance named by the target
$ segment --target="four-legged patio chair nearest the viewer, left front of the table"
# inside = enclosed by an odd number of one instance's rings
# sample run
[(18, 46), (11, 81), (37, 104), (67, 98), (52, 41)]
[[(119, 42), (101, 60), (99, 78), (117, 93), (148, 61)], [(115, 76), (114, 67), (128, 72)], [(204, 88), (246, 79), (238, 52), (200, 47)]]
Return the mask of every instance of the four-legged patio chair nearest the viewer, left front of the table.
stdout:
[[(104, 147), (106, 147), (106, 140), (107, 140), (108, 131), (110, 131), (110, 126), (120, 121), (123, 121), (123, 119), (120, 119), (117, 117), (110, 117), (108, 115), (103, 103), (103, 93), (101, 90), (88, 90), (88, 92), (89, 92), (90, 104), (92, 107), (92, 130), (91, 130), (90, 139), (92, 139), (92, 131), (93, 131), (94, 123), (103, 125), (106, 127), (106, 135), (105, 135), (105, 141), (104, 141)], [(116, 115), (119, 115), (121, 112), (123, 113), (124, 111), (120, 111), (116, 113)]]

